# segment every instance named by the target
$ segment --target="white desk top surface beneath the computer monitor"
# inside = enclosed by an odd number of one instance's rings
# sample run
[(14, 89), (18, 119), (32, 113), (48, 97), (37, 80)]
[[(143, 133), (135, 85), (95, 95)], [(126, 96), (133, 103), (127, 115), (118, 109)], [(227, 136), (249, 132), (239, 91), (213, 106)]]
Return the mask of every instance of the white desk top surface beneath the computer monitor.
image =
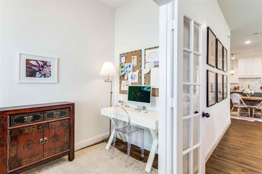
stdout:
[[(115, 107), (102, 108), (101, 109), (101, 114), (102, 114), (102, 111), (107, 111), (107, 112), (110, 112), (110, 113), (114, 113), (114, 108)], [(155, 121), (155, 122), (158, 121), (158, 111), (143, 110), (143, 111), (147, 111), (147, 113), (142, 113), (142, 112), (129, 111), (129, 109), (135, 109), (135, 108), (124, 108), (124, 109), (126, 109), (126, 111), (129, 114), (130, 118), (147, 119), (147, 120), (151, 120), (151, 121)], [(104, 114), (102, 114), (102, 115), (104, 115)]]

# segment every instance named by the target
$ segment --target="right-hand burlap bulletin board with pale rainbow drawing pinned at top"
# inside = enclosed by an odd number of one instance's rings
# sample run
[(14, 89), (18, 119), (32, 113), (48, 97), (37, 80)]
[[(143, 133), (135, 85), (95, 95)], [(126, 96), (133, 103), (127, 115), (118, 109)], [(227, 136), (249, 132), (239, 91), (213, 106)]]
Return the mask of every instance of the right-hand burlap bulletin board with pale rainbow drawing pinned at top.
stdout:
[[(150, 55), (149, 55), (150, 54)], [(144, 60), (144, 65), (145, 65), (145, 69), (148, 70), (148, 68), (156, 68), (159, 67), (159, 46), (155, 46), (155, 47), (151, 47), (151, 48), (146, 48), (145, 49), (145, 60)], [(154, 76), (151, 76), (151, 71), (152, 69), (148, 72), (144, 74), (144, 85), (146, 86), (150, 86), (151, 85), (151, 78), (152, 82), (153, 82), (153, 86), (152, 86), (152, 96), (153, 97), (158, 97), (158, 88), (154, 88), (159, 86), (159, 82), (157, 83), (157, 80), (159, 80), (159, 70), (157, 71), (156, 69), (153, 70), (154, 72)], [(158, 72), (158, 73), (157, 73)], [(157, 77), (158, 78), (157, 78)]]

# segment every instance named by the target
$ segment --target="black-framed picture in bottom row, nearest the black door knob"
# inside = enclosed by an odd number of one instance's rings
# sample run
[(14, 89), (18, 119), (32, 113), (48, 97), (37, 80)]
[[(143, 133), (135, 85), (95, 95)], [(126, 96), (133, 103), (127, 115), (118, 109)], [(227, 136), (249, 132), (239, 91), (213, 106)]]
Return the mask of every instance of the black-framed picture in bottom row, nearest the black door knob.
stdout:
[(213, 106), (216, 102), (216, 73), (206, 70), (206, 107)]

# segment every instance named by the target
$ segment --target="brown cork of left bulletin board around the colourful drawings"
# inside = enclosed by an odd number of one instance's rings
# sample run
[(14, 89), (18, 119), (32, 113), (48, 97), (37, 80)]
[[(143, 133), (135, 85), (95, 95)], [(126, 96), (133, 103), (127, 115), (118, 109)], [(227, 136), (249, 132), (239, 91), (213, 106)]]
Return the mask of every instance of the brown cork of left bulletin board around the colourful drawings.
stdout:
[[(120, 58), (121, 55), (126, 56), (126, 61), (125, 63), (131, 63), (131, 57), (136, 56), (137, 57), (137, 65), (133, 66), (133, 72), (136, 70), (139, 70), (138, 72), (138, 82), (134, 83), (132, 82), (132, 85), (141, 85), (141, 66), (142, 66), (142, 50), (135, 50), (131, 52), (125, 52), (119, 55), (119, 69), (121, 68), (121, 63), (120, 63)], [(127, 94), (127, 90), (121, 90), (121, 85), (122, 85), (122, 80), (125, 80), (124, 76), (119, 76), (119, 93), (120, 94)]]

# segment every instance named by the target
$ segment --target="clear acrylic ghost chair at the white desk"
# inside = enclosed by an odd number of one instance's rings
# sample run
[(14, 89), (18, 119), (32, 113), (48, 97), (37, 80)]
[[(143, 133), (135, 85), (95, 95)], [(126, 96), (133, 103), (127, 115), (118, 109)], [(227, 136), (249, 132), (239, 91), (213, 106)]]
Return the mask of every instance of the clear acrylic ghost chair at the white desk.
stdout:
[[(114, 126), (114, 139), (113, 139), (113, 148), (112, 148), (112, 155), (111, 159), (114, 155), (115, 150), (115, 140), (116, 140), (116, 134), (117, 133), (123, 133), (127, 135), (127, 159), (126, 159), (126, 167), (127, 162), (129, 159), (130, 149), (131, 149), (131, 141), (132, 141), (132, 135), (140, 133), (140, 139), (141, 139), (141, 156), (144, 157), (144, 129), (138, 128), (136, 126), (130, 125), (130, 117), (129, 114), (126, 112), (126, 110), (120, 106), (115, 106), (114, 109), (114, 116), (115, 116), (115, 126)], [(121, 120), (117, 119), (119, 117), (126, 117), (127, 120), (127, 126), (120, 127)]]

